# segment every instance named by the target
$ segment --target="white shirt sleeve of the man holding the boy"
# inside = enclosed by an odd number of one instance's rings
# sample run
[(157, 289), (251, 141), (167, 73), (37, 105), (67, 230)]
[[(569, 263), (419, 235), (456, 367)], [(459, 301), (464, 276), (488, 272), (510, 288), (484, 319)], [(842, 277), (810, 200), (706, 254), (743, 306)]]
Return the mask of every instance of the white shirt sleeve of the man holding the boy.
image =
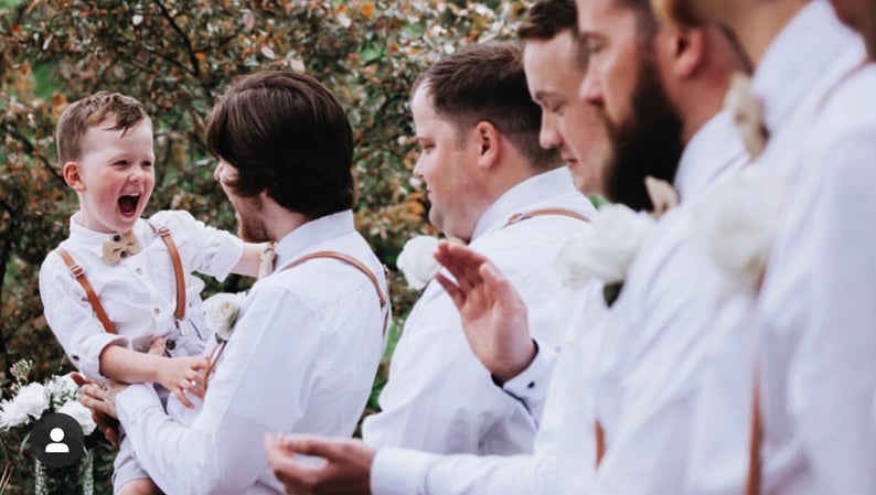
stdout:
[[(116, 399), (138, 462), (165, 493), (232, 494), (257, 480), (277, 483), (264, 453), (265, 435), (291, 431), (303, 416), (322, 372), (324, 345), (317, 314), (282, 288), (259, 289), (190, 427), (168, 417), (150, 387), (131, 386)], [(293, 345), (290, 322), (298, 330)]]

